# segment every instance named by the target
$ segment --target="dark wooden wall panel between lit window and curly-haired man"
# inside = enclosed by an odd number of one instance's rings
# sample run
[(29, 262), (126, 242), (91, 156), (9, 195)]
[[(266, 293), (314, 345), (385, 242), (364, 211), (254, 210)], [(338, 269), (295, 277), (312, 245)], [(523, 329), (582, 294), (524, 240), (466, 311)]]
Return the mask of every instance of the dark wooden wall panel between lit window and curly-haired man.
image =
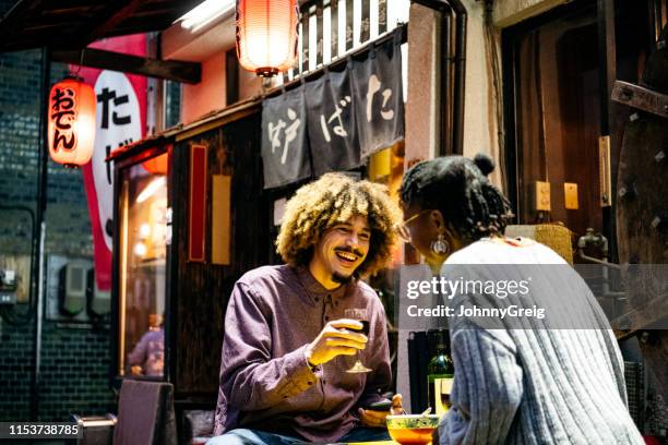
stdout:
[[(214, 175), (231, 176), (230, 265), (212, 264), (212, 237), (206, 233), (206, 261), (188, 263), (188, 146), (208, 146), (207, 188)], [(178, 401), (215, 402), (218, 390), (225, 308), (236, 280), (267, 264), (270, 205), (262, 191), (260, 115), (180, 142), (175, 148), (171, 375)], [(212, 220), (207, 200), (207, 221)], [(207, 225), (212, 227), (211, 224)]]

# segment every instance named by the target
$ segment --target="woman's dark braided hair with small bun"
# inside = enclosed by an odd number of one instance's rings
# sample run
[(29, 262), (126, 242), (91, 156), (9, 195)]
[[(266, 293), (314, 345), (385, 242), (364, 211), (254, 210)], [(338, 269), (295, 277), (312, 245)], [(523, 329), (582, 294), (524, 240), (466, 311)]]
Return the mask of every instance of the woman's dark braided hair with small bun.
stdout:
[(472, 160), (445, 156), (417, 164), (404, 176), (402, 202), (421, 209), (439, 209), (460, 238), (473, 242), (502, 234), (513, 217), (511, 206), (487, 176), (494, 161), (485, 154)]

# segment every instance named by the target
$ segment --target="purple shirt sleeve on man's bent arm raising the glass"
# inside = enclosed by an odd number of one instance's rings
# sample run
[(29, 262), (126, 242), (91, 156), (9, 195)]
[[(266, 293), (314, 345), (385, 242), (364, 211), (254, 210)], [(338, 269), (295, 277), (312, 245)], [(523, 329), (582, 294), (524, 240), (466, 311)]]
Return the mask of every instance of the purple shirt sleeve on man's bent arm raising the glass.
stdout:
[(271, 358), (267, 317), (252, 289), (237, 282), (225, 316), (220, 386), (227, 402), (243, 411), (266, 409), (315, 384), (306, 345)]

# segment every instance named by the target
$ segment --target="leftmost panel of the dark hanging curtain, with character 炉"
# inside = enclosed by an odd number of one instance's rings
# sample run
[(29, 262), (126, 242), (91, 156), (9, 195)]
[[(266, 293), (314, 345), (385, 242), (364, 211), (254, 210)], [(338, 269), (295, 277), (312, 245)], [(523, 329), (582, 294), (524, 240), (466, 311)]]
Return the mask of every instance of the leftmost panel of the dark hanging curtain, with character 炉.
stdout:
[(265, 189), (311, 177), (306, 120), (302, 87), (265, 99), (262, 104), (262, 164)]

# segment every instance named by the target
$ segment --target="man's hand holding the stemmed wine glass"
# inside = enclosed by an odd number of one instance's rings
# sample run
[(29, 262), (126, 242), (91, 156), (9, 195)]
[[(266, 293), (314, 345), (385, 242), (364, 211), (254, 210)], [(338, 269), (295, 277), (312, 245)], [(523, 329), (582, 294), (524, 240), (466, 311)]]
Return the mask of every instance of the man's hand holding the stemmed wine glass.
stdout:
[(367, 347), (367, 336), (357, 332), (361, 328), (360, 322), (348, 318), (327, 323), (313, 342), (307, 346), (307, 360), (319, 365), (337, 356), (355, 356), (358, 350)]

